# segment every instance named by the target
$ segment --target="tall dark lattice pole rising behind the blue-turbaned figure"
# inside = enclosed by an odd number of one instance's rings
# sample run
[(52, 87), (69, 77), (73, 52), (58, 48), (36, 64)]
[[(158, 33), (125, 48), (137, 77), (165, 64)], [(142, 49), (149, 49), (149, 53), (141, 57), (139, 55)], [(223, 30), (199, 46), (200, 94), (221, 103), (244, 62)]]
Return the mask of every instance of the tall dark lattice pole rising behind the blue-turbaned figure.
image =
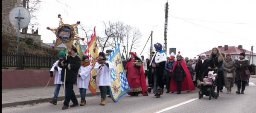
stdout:
[(165, 6), (165, 22), (164, 22), (164, 42), (163, 42), (163, 51), (166, 52), (167, 54), (167, 23), (168, 23), (168, 10), (169, 10), (169, 5), (168, 3), (166, 3), (166, 6)]

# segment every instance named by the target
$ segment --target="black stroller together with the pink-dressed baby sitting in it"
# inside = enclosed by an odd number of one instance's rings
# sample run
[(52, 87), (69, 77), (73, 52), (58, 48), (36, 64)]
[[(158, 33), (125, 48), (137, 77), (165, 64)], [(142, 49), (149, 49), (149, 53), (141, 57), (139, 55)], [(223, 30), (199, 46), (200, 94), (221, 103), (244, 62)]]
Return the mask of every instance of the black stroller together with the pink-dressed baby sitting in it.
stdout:
[[(208, 72), (208, 75), (207, 75)], [(213, 74), (215, 73), (215, 74)], [(199, 91), (199, 99), (203, 98), (204, 95), (205, 96), (209, 96), (209, 100), (211, 100), (211, 98), (218, 98), (218, 93), (215, 91), (215, 79), (217, 79), (218, 77), (218, 72), (216, 72), (213, 69), (207, 69), (203, 74), (202, 74), (203, 78), (201, 82), (200, 80), (198, 80), (198, 85), (200, 85), (200, 91)], [(204, 77), (205, 76), (205, 77)]]

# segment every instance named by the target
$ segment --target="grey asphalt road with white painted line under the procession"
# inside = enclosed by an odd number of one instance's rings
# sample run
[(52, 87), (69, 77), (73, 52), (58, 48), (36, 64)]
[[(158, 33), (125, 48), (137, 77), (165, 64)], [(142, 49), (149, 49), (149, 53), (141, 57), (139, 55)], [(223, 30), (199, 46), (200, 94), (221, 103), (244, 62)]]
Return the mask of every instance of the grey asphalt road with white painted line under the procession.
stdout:
[[(57, 105), (47, 102), (32, 105), (20, 105), (2, 108), (2, 113), (256, 113), (256, 78), (251, 77), (251, 84), (246, 86), (244, 94), (236, 94), (236, 86), (231, 94), (226, 94), (226, 89), (220, 93), (218, 99), (208, 99), (204, 96), (198, 99), (198, 91), (180, 95), (164, 93), (161, 98), (154, 94), (138, 97), (123, 96), (119, 102), (114, 103), (107, 98), (106, 105), (101, 106), (100, 96), (87, 97), (85, 106), (77, 106), (61, 110), (63, 101)], [(71, 105), (72, 103), (70, 103)]]

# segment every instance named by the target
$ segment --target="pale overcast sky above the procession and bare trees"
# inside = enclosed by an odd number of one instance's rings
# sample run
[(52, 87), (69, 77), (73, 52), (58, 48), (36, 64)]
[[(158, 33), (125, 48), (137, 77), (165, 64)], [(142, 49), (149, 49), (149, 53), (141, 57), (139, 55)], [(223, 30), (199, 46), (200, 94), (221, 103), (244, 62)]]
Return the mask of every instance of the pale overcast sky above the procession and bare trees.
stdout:
[[(70, 8), (60, 5), (56, 0), (48, 0), (42, 3), (42, 9), (38, 12), (38, 22), (41, 24), (39, 34), (45, 43), (56, 39), (55, 34), (46, 28), (58, 27), (58, 14), (61, 14), (69, 24), (81, 21), (88, 27), (92, 26), (91, 29), (96, 26), (98, 36), (104, 35), (103, 21), (122, 21), (138, 27), (143, 37), (140, 39), (141, 47), (133, 50), (137, 53), (142, 51), (152, 26), (157, 25), (153, 28), (153, 44), (163, 44), (167, 0), (62, 1)], [(171, 47), (177, 48), (183, 57), (193, 58), (219, 45), (243, 45), (249, 51), (252, 44), (256, 45), (256, 0), (168, 0), (168, 3), (167, 56)], [(150, 40), (143, 55), (146, 56), (149, 47)]]

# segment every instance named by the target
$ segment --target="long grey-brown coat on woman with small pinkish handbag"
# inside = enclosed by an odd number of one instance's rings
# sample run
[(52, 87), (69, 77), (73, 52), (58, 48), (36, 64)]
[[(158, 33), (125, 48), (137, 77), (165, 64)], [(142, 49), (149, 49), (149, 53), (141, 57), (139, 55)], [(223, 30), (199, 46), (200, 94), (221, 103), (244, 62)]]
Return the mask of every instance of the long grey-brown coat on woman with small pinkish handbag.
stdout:
[[(225, 87), (226, 88), (232, 88), (234, 86), (234, 78), (235, 78), (235, 67), (234, 67), (234, 63), (235, 61), (233, 60), (225, 60), (222, 63), (222, 67), (223, 67), (223, 75), (224, 75), (224, 80), (225, 80)], [(228, 69), (231, 69), (231, 73), (233, 74), (233, 78), (227, 78), (227, 73)]]

